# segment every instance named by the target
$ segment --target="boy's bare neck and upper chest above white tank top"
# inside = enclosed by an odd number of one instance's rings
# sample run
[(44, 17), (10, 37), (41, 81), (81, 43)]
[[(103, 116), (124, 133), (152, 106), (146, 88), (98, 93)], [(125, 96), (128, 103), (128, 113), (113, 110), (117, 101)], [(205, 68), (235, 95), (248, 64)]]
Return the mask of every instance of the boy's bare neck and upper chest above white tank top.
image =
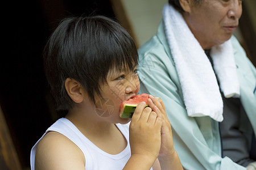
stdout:
[(102, 121), (93, 116), (93, 109), (76, 109), (69, 112), (65, 118), (71, 121), (91, 142), (109, 154), (119, 154), (127, 146), (127, 141), (121, 131), (113, 123)]

